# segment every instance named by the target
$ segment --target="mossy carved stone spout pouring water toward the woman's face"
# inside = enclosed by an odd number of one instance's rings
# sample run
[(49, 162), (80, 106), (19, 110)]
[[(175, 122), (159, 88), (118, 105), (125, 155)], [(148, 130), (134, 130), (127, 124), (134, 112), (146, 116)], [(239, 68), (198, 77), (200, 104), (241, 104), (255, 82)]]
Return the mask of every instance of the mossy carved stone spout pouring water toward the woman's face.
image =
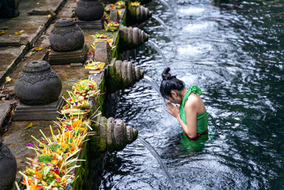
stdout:
[(116, 60), (109, 65), (107, 75), (107, 92), (114, 93), (121, 88), (131, 87), (136, 81), (143, 78), (144, 71), (130, 61)]

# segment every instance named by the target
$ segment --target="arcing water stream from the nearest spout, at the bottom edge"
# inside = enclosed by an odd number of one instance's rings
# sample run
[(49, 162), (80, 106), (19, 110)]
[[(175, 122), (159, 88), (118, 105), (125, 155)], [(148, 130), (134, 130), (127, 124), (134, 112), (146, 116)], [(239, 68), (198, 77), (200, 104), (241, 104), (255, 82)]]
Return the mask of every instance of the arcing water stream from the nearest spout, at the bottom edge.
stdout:
[(138, 137), (138, 139), (143, 144), (143, 146), (146, 147), (146, 149), (148, 149), (148, 151), (158, 161), (158, 163), (160, 164), (160, 167), (165, 172), (165, 176), (167, 177), (168, 181), (170, 182), (170, 185), (172, 186), (172, 189), (175, 190), (176, 189), (175, 183), (173, 182), (173, 179), (170, 177), (170, 173), (168, 172), (168, 169), (165, 167), (165, 165), (163, 164), (162, 160), (160, 159), (160, 156), (159, 156), (158, 152), (156, 152), (154, 147), (149, 142), (147, 142), (145, 139), (143, 139), (141, 137)]

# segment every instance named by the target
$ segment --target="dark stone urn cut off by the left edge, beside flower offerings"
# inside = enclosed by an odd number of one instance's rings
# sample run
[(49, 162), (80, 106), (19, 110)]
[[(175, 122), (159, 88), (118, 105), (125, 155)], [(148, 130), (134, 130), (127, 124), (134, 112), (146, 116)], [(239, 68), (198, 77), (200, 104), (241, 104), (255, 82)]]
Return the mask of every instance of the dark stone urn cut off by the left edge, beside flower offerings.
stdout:
[(0, 138), (0, 189), (8, 190), (13, 186), (17, 172), (16, 159), (13, 153)]

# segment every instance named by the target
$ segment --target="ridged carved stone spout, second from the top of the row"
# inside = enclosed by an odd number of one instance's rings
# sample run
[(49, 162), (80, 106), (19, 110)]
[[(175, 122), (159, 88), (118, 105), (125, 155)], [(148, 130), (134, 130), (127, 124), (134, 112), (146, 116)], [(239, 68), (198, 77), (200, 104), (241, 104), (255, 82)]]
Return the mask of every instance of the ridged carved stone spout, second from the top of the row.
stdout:
[(141, 46), (148, 41), (148, 35), (139, 28), (126, 26), (119, 27), (119, 40), (121, 41), (121, 49), (127, 50)]

